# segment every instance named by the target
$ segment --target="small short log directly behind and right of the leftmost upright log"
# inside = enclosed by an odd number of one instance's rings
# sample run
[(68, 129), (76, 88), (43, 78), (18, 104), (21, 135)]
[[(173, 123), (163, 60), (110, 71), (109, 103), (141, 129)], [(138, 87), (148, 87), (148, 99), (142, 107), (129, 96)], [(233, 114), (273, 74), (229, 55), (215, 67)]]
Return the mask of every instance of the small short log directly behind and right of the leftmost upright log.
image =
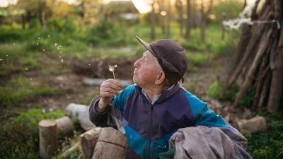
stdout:
[(62, 117), (56, 119), (56, 123), (57, 123), (57, 130), (59, 135), (64, 136), (73, 133), (74, 125), (69, 117)]

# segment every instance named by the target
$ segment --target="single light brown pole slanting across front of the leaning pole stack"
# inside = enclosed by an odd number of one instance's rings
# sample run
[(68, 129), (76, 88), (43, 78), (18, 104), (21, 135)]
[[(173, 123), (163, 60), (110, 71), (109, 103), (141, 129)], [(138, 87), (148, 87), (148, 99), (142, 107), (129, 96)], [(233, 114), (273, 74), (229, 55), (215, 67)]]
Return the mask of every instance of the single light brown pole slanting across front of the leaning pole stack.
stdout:
[(233, 103), (233, 107), (236, 107), (238, 105), (238, 102), (241, 100), (243, 95), (246, 93), (246, 90), (248, 89), (248, 86), (250, 86), (251, 81), (253, 80), (253, 76), (255, 76), (255, 71), (258, 68), (258, 65), (260, 64), (260, 61), (262, 59), (263, 54), (266, 51), (266, 48), (270, 44), (270, 36), (272, 35), (272, 29), (268, 30), (266, 34), (265, 42), (263, 42), (262, 45), (260, 45), (260, 48), (258, 49), (258, 52), (256, 54), (255, 60), (253, 61), (252, 66), (250, 66), (250, 69), (248, 71), (248, 75), (246, 76), (245, 81), (243, 82), (243, 85), (241, 86), (240, 91), (237, 94), (236, 100)]

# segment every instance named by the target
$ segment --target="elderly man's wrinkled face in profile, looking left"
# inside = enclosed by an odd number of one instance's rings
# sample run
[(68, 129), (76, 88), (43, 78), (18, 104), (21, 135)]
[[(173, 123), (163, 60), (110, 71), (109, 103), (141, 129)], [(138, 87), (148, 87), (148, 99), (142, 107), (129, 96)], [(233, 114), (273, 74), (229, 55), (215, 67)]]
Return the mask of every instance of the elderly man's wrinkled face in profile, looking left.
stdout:
[(154, 85), (158, 76), (155, 60), (154, 55), (146, 51), (140, 59), (134, 62), (133, 81), (141, 88)]

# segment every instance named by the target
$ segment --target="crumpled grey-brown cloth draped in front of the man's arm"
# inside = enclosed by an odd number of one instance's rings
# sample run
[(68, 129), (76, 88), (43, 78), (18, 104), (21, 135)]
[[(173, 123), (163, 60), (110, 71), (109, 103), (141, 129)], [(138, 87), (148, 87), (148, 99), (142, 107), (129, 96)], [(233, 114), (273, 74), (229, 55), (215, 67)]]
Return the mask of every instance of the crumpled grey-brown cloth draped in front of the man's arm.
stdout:
[(237, 131), (233, 134), (224, 133), (227, 129), (229, 128), (207, 126), (178, 129), (169, 140), (169, 151), (160, 153), (159, 157), (161, 159), (250, 159), (250, 155), (246, 152), (246, 144), (243, 144), (246, 141), (245, 137)]

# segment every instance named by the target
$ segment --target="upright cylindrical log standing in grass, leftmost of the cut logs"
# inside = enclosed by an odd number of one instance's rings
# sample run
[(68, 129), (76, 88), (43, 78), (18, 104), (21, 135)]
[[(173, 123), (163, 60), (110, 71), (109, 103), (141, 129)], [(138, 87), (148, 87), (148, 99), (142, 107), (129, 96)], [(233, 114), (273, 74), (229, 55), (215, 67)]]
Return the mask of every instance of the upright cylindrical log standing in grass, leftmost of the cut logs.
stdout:
[(52, 158), (58, 148), (57, 123), (53, 119), (44, 119), (38, 125), (40, 129), (40, 157)]

